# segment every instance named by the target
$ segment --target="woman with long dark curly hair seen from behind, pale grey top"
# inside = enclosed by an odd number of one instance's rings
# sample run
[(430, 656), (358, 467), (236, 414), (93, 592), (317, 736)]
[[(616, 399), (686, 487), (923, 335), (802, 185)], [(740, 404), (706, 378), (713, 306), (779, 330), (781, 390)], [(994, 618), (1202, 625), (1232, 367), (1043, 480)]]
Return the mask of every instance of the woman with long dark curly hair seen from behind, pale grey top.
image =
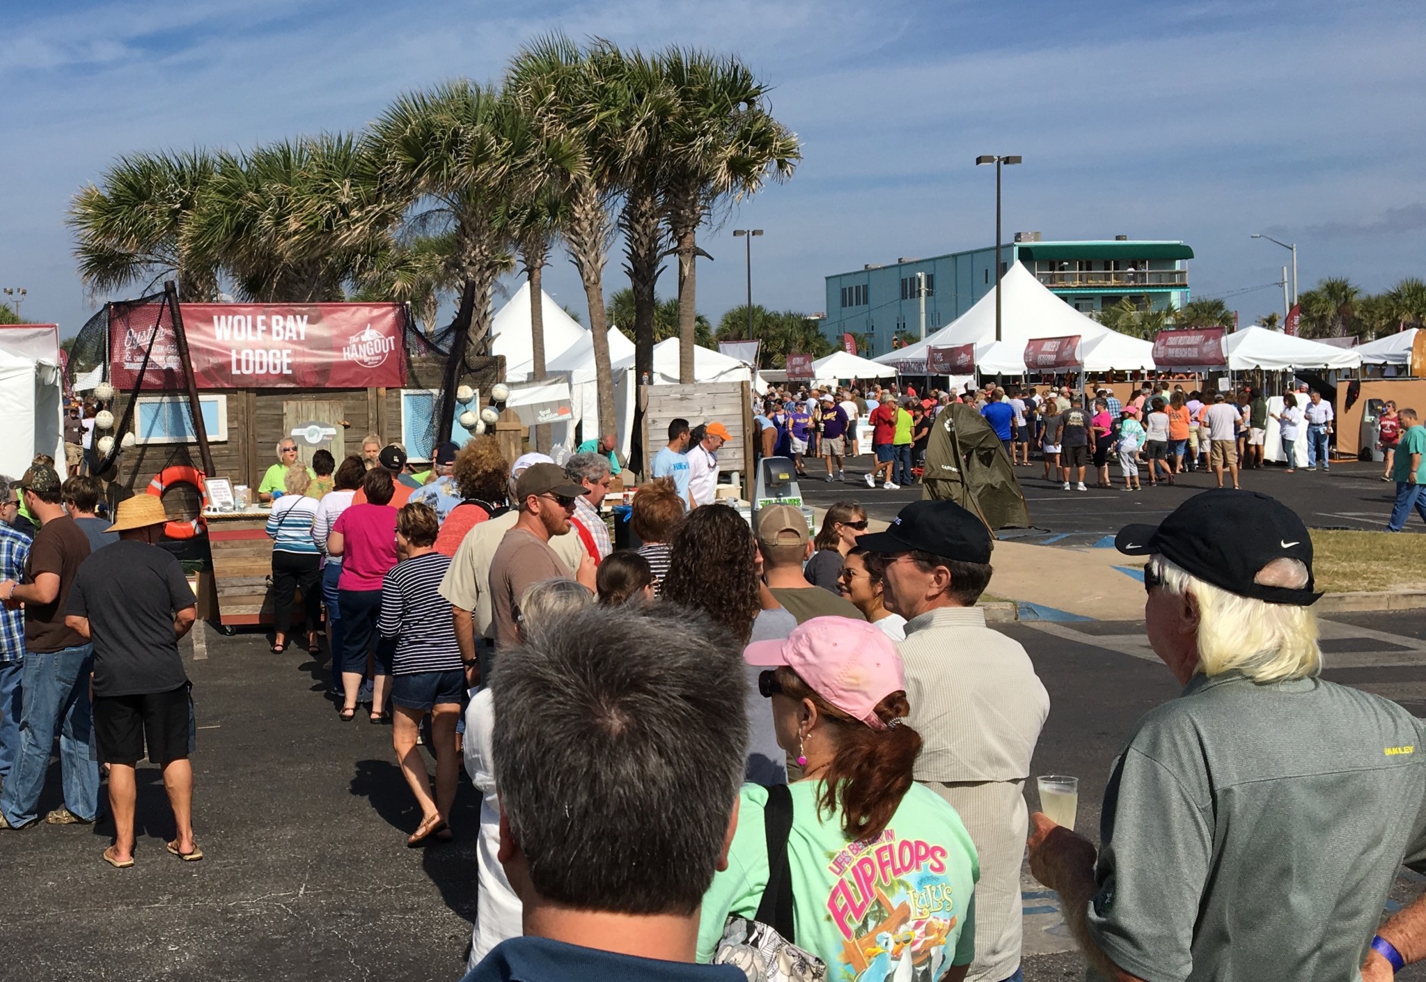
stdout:
[[(733, 508), (694, 508), (669, 545), (665, 601), (703, 611), (739, 645), (786, 638), (797, 627), (797, 619), (763, 587), (753, 530)], [(757, 695), (757, 668), (749, 667), (747, 677), (747, 779), (781, 784), (787, 779), (786, 756), (777, 746), (767, 701)]]

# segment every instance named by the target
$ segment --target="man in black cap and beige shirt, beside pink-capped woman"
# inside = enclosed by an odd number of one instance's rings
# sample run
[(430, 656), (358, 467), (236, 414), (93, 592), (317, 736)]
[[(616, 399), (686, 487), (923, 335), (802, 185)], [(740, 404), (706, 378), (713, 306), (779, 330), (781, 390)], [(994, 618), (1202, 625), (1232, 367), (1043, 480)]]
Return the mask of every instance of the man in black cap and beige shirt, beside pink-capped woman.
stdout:
[(991, 577), (985, 522), (954, 501), (914, 501), (857, 545), (878, 554), (886, 607), (907, 621), (897, 649), (908, 722), (921, 734), (915, 779), (960, 812), (980, 852), (967, 978), (1011, 979), (1020, 971), (1024, 788), (1050, 697), (1020, 642), (987, 628), (975, 607)]

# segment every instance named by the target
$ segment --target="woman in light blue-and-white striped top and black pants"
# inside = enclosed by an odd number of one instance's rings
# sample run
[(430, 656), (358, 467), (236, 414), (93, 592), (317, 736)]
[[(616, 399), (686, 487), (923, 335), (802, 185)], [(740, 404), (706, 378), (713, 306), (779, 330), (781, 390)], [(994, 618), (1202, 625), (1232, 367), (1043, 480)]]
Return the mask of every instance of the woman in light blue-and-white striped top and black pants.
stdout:
[(312, 521), (317, 518), (317, 498), (307, 494), (312, 477), (305, 464), (287, 468), (284, 494), (272, 502), (267, 534), (272, 542), (272, 652), (287, 649), (287, 634), (292, 624), (292, 601), (302, 591), (304, 629), (307, 649), (319, 654), (317, 628), (322, 622), (322, 555), (312, 541)]

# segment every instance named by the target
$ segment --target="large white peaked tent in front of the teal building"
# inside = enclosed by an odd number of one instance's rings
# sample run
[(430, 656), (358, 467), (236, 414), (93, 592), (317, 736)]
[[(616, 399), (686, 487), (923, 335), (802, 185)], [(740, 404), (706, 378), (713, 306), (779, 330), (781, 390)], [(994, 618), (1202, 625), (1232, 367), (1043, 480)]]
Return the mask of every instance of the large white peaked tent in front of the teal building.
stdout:
[[(995, 341), (995, 293), (1001, 301), (1001, 341)], [(930, 347), (975, 345), (975, 367), (981, 373), (1020, 375), (1025, 371), (1025, 343), (1034, 338), (1081, 338), (1079, 353), (1085, 371), (1132, 371), (1154, 367), (1149, 341), (1111, 331), (1092, 317), (1085, 317), (1050, 293), (1035, 274), (1012, 263), (1000, 284), (975, 304), (923, 341), (873, 358), (884, 365), (925, 363)], [(1108, 338), (1105, 335), (1109, 335)], [(1101, 340), (1104, 338), (1104, 340)]]

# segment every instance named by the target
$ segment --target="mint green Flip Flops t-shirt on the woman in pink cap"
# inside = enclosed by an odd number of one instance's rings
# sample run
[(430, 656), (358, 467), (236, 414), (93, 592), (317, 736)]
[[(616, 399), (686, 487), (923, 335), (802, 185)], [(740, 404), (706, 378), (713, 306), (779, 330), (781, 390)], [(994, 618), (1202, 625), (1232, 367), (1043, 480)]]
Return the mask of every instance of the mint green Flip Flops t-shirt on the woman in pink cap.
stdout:
[[(954, 808), (913, 784), (881, 835), (848, 842), (840, 816), (817, 809), (820, 781), (790, 786), (793, 929), (797, 946), (827, 963), (829, 982), (886, 979), (906, 959), (906, 978), (938, 979), (951, 965), (970, 965), (980, 859)], [(766, 804), (766, 788), (743, 785), (727, 869), (703, 896), (700, 962), (713, 959), (730, 915), (757, 913), (767, 886)]]

